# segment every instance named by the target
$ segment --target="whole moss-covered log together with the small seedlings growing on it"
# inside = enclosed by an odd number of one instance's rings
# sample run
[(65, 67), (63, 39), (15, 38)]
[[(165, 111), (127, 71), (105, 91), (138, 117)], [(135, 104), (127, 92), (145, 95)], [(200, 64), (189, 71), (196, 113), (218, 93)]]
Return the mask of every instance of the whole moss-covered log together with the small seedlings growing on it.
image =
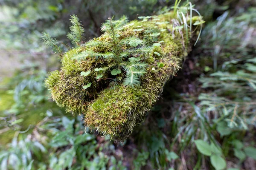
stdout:
[[(190, 50), (194, 34), (170, 34), (178, 21), (171, 24), (169, 17), (170, 11), (129, 23), (126, 17), (109, 18), (101, 37), (68, 51), (61, 71), (49, 74), (45, 85), (52, 98), (68, 112), (83, 113), (85, 124), (103, 135), (126, 139)], [(200, 16), (189, 18), (201, 21)], [(79, 34), (78, 28), (73, 34)]]

